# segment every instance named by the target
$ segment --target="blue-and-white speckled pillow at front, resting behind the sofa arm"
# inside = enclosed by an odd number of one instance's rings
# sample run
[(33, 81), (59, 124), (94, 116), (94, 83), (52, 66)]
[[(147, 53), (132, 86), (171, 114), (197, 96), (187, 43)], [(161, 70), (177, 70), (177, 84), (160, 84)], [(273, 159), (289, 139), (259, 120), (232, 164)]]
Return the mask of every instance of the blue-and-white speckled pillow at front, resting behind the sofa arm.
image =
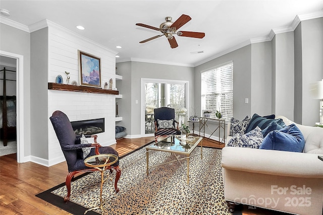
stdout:
[(261, 129), (256, 127), (246, 134), (235, 134), (228, 143), (228, 147), (243, 147), (258, 149), (263, 140)]

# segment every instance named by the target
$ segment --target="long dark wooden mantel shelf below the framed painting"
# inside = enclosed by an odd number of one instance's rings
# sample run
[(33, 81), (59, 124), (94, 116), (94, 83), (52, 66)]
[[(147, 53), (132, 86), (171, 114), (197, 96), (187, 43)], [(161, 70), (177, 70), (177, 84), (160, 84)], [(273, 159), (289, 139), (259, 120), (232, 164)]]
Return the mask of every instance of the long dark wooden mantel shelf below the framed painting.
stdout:
[(100, 94), (112, 94), (119, 95), (117, 90), (105, 90), (101, 88), (86, 87), (86, 86), (76, 86), (76, 85), (65, 85), (57, 83), (48, 83), (48, 90), (64, 90), (64, 91), (74, 91), (83, 93), (100, 93)]

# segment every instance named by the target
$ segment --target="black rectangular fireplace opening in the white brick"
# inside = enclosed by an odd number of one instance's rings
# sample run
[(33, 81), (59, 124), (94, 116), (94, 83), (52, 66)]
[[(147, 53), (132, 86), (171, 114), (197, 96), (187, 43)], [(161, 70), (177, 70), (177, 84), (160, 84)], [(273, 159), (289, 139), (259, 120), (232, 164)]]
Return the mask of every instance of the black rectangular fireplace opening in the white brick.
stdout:
[(76, 135), (104, 132), (104, 118), (73, 121), (71, 124)]

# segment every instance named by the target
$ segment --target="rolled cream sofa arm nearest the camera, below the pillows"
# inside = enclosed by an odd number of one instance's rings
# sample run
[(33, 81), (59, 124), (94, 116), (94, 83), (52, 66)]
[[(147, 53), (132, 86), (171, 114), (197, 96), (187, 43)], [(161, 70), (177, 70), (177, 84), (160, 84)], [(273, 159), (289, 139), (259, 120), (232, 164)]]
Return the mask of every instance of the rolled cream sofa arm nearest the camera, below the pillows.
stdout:
[(300, 178), (323, 178), (323, 162), (317, 154), (240, 147), (222, 149), (225, 169)]

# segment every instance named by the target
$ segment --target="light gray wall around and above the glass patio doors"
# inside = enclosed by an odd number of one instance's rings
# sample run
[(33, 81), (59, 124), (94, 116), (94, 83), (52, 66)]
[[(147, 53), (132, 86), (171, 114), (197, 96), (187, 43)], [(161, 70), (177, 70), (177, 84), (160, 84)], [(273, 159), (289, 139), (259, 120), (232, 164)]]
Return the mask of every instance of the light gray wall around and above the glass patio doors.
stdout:
[[(188, 107), (193, 104), (195, 86), (193, 67), (131, 61), (117, 63), (117, 68), (118, 73), (125, 80), (122, 80), (122, 86), (126, 85), (122, 87), (122, 94), (125, 95), (122, 99), (122, 106), (126, 107), (127, 113), (124, 113), (122, 109), (122, 114), (128, 118), (123, 116), (122, 123), (125, 123), (127, 133), (130, 135), (139, 135), (141, 131), (141, 119), (138, 114), (141, 111), (141, 105), (144, 105), (141, 104), (141, 78), (189, 81)], [(128, 95), (131, 95), (130, 98)], [(136, 100), (138, 104), (135, 103)]]

